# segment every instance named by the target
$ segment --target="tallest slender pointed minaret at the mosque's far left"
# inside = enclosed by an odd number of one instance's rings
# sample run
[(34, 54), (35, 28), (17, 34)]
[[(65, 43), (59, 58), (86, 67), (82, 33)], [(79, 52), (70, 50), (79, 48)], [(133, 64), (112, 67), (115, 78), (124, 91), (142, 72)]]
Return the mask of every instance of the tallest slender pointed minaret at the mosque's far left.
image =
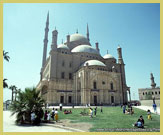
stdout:
[(48, 32), (49, 32), (49, 12), (47, 14), (46, 20), (46, 28), (45, 28), (45, 37), (44, 37), (44, 49), (43, 49), (43, 58), (42, 58), (42, 68), (46, 63), (46, 53), (47, 53), (47, 45), (48, 45)]

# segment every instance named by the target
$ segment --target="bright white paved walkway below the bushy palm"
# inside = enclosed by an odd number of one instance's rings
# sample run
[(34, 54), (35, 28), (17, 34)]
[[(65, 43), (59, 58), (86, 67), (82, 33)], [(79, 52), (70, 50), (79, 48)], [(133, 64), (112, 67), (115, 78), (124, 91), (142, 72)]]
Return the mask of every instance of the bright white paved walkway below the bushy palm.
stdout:
[(49, 124), (43, 126), (17, 126), (15, 115), (11, 117), (10, 111), (3, 111), (3, 132), (72, 132), (73, 130), (57, 128)]

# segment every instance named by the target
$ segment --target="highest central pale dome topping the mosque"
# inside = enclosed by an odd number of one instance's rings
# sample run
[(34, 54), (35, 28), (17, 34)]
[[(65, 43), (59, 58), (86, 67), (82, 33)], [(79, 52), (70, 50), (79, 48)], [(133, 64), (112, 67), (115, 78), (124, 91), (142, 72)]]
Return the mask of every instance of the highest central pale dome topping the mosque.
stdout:
[(78, 34), (78, 33), (75, 33), (75, 34), (72, 34), (70, 35), (70, 42), (77, 42), (77, 43), (84, 43), (84, 44), (90, 44), (88, 39), (81, 35), (81, 34)]

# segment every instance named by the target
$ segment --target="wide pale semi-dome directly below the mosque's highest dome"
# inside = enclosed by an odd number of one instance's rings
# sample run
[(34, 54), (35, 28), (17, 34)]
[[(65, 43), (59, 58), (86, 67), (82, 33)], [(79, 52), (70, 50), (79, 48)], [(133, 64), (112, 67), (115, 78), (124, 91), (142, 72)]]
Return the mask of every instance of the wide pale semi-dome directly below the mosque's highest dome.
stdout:
[(89, 45), (79, 45), (79, 46), (73, 48), (71, 50), (71, 52), (87, 52), (87, 53), (93, 53), (93, 54), (99, 55), (99, 52), (95, 48), (93, 48)]

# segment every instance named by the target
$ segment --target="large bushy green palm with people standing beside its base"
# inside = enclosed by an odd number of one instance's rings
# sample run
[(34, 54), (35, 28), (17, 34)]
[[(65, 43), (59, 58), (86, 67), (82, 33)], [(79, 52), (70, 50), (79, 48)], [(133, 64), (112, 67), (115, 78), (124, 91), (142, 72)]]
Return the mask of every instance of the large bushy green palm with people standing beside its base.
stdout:
[(41, 122), (42, 107), (45, 101), (39, 96), (40, 91), (36, 88), (26, 88), (25, 91), (18, 91), (17, 100), (11, 103), (12, 115), (16, 114), (16, 123), (30, 123), (31, 112), (35, 112), (37, 123)]

